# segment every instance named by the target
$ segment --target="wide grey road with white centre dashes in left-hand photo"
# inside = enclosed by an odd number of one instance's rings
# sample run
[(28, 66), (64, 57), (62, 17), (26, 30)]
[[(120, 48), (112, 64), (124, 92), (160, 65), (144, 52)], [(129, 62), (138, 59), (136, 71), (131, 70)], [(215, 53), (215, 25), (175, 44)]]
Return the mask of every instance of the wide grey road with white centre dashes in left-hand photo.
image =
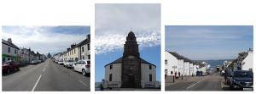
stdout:
[(83, 76), (49, 58), (11, 74), (2, 73), (2, 92), (90, 92), (90, 75)]

